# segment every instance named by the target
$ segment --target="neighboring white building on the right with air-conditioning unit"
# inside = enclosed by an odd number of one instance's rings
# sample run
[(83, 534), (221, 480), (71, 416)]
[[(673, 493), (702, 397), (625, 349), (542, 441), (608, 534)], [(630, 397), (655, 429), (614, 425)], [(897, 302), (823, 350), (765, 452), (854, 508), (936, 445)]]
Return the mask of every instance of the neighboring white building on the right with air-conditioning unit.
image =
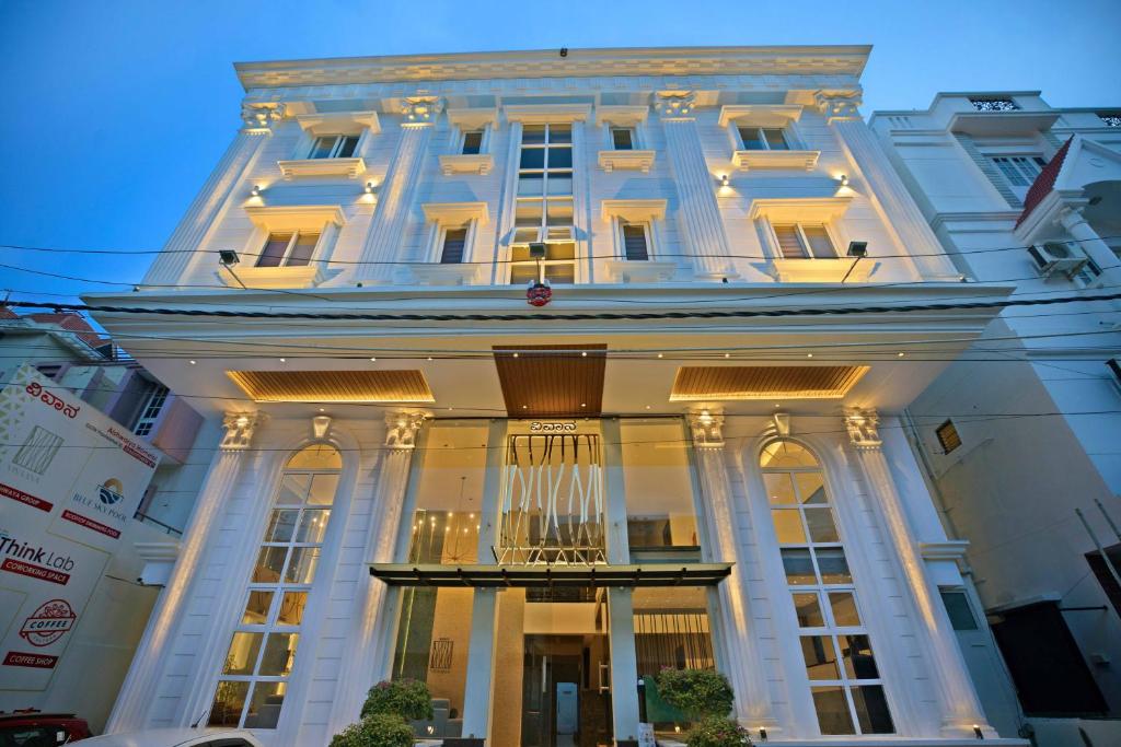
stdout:
[[(871, 127), (971, 281), (1027, 298), (1121, 287), (1121, 110), (941, 93)], [(1082, 744), (1080, 726), (1121, 740), (1100, 720), (1121, 717), (1119, 333), (1115, 301), (1007, 309), (908, 408), (1022, 711), (1065, 718), (1030, 719), (1043, 744)]]

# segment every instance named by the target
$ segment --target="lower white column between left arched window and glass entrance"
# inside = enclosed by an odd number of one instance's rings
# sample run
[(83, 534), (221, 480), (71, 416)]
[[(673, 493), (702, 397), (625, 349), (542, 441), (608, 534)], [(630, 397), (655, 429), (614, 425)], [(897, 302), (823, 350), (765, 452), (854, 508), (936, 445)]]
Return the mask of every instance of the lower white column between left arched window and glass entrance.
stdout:
[[(408, 486), (414, 445), (425, 415), (420, 412), (387, 412), (386, 443), (378, 469), (378, 487), (373, 496), (367, 527), (367, 562), (383, 563), (393, 560), (393, 548), (401, 526), (405, 488)], [(351, 607), (352, 627), (346, 637), (346, 656), (343, 657), (335, 699), (331, 706), (327, 734), (337, 734), (358, 720), (365, 701), (365, 693), (378, 676), (378, 619), (386, 605), (386, 585), (371, 577), (359, 581)], [(383, 639), (383, 646), (392, 641)]]

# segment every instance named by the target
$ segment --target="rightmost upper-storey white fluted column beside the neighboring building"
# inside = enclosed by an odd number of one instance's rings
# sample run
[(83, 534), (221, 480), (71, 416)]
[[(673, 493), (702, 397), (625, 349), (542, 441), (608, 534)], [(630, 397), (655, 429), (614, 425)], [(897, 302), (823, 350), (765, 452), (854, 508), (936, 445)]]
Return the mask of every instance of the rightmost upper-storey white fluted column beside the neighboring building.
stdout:
[[(854, 174), (846, 176), (854, 184), (854, 189), (861, 190), (879, 213), (884, 228), (895, 237), (899, 249), (912, 255), (908, 261), (918, 276), (916, 280), (957, 280), (961, 272), (938, 243), (930, 224), (907, 192), (872, 130), (861, 119), (856, 110), (860, 99), (854, 94), (818, 93), (816, 101), (853, 167)], [(860, 236), (853, 239), (859, 240)], [(874, 260), (874, 254), (873, 248), (869, 259)]]

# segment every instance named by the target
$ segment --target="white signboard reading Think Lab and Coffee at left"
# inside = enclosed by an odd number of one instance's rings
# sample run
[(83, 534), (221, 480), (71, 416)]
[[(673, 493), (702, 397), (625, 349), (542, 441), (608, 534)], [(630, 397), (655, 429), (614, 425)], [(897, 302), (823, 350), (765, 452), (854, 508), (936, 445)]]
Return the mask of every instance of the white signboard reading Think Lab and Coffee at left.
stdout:
[(158, 461), (25, 364), (0, 390), (0, 690), (45, 690)]

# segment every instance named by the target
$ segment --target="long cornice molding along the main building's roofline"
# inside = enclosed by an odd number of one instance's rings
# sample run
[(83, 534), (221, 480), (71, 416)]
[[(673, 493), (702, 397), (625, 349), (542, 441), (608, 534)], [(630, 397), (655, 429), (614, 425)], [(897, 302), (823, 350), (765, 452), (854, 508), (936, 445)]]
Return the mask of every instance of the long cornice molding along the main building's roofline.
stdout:
[(434, 80), (650, 75), (853, 75), (871, 47), (642, 47), (489, 52), (235, 63), (247, 91), (294, 85)]

